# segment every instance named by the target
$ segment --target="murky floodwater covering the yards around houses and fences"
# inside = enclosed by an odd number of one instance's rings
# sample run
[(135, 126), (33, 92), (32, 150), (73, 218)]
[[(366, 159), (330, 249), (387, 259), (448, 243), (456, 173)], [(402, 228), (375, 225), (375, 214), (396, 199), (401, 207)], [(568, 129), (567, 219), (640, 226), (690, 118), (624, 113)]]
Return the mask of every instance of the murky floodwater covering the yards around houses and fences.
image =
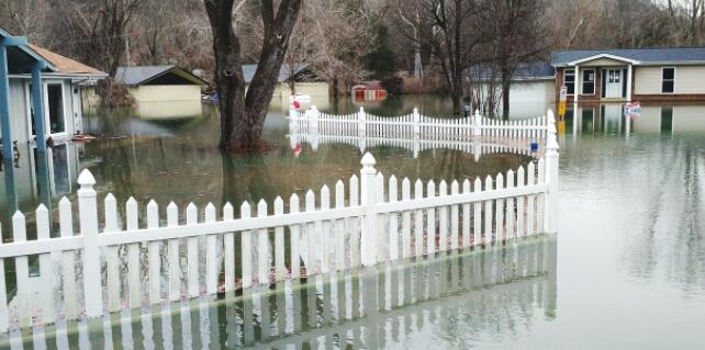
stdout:
[[(318, 104), (334, 113), (358, 108), (348, 101)], [(450, 110), (446, 99), (424, 97), (368, 111), (396, 115), (414, 106), (429, 115)], [(85, 121), (99, 140), (58, 147), (47, 161), (26, 150), (16, 166), (5, 163), (3, 237), (13, 208), (31, 214), (40, 202), (74, 197), (83, 168), (96, 176), (100, 195), (113, 192), (119, 201), (134, 195), (143, 205), (152, 197), (161, 205), (174, 200), (180, 206), (271, 201), (359, 171), (355, 146), (292, 147), (281, 106), (272, 108), (265, 131), (273, 149), (236, 156), (215, 150), (217, 117), (209, 106), (167, 112), (189, 111), (177, 117), (165, 117), (165, 110), (99, 111)], [(10, 338), (49, 348), (702, 348), (705, 106), (642, 106), (639, 115), (626, 117), (620, 105), (581, 106), (569, 110), (558, 127), (555, 237)], [(475, 160), (447, 149), (417, 158), (395, 147), (370, 151), (385, 174), (412, 179), (473, 178), (528, 161), (505, 154)], [(5, 340), (0, 338), (0, 347)]]

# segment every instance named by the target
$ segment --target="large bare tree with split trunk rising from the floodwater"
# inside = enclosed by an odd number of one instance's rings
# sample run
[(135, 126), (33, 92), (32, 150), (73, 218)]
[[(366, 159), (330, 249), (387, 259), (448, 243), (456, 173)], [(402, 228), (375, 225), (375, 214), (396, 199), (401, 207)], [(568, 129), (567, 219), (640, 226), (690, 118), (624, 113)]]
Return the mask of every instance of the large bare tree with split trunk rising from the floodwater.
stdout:
[(220, 147), (228, 151), (259, 149), (265, 116), (302, 0), (281, 0), (277, 8), (272, 0), (260, 1), (265, 36), (257, 71), (247, 91), (239, 38), (233, 30), (235, 0), (203, 2), (213, 32), (214, 80), (221, 108)]

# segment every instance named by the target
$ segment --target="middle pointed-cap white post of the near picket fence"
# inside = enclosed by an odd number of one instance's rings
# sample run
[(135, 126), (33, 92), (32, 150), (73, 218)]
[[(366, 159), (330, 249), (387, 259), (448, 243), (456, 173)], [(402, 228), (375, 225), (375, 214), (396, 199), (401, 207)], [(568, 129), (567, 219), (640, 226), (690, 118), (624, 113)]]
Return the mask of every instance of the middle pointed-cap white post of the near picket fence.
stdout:
[(371, 267), (377, 263), (377, 169), (374, 157), (367, 153), (362, 157), (360, 169), (361, 203), (365, 218), (360, 234), (360, 255), (362, 266)]

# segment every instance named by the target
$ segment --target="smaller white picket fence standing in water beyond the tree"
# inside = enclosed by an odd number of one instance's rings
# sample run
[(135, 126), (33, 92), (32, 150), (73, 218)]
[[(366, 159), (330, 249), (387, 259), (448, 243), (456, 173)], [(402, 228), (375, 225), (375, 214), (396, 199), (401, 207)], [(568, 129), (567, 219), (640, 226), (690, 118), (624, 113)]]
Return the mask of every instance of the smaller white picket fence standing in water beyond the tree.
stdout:
[(416, 137), (429, 140), (469, 140), (477, 138), (521, 138), (539, 140), (548, 136), (551, 113), (526, 120), (502, 121), (480, 115), (475, 111), (467, 117), (432, 117), (414, 109), (401, 116), (378, 116), (365, 112), (363, 108), (352, 114), (333, 115), (318, 111), (316, 106), (303, 113), (289, 111), (290, 132), (365, 137)]

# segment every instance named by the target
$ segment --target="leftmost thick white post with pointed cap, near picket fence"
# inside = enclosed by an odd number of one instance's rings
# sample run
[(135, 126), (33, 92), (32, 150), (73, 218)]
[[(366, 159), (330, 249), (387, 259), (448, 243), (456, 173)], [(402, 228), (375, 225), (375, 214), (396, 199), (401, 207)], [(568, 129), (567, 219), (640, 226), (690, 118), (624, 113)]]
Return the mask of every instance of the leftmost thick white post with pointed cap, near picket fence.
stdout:
[(100, 276), (100, 251), (98, 247), (98, 201), (93, 189), (96, 179), (85, 169), (78, 177), (78, 215), (83, 236), (83, 291), (86, 314), (93, 318), (103, 314), (103, 294)]

